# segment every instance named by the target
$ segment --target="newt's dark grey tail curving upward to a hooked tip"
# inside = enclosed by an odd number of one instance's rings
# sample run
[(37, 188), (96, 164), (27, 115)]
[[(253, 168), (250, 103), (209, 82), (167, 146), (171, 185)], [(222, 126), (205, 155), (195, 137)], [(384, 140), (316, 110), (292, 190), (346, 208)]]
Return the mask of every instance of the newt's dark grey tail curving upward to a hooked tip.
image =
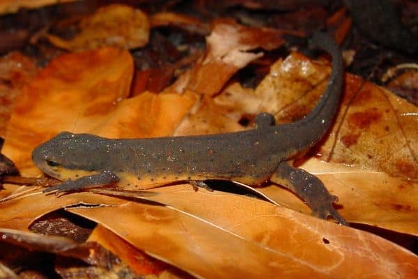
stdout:
[(311, 47), (319, 47), (331, 54), (332, 73), (327, 89), (314, 110), (303, 119), (289, 123), (286, 127), (289, 128), (289, 133), (293, 134), (293, 145), (296, 143), (299, 151), (314, 146), (327, 133), (339, 109), (343, 91), (343, 59), (341, 50), (334, 39), (325, 33), (315, 33), (309, 44)]

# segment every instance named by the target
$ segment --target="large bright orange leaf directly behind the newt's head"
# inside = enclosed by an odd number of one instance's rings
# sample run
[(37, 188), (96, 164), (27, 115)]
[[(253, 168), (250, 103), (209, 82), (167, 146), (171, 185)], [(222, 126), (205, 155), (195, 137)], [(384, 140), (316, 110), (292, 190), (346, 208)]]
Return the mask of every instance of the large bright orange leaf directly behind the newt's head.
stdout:
[(10, 154), (22, 174), (39, 174), (31, 163), (31, 150), (62, 130), (97, 126), (98, 117), (107, 117), (127, 97), (132, 70), (130, 54), (114, 48), (54, 59), (22, 88), (3, 153)]

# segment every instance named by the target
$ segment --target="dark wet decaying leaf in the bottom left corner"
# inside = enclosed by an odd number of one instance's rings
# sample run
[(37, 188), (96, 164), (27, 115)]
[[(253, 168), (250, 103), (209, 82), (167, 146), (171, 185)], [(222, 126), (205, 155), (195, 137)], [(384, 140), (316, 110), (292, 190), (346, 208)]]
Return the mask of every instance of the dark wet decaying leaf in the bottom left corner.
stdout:
[[(40, 235), (13, 229), (0, 229), (0, 234), (0, 246), (15, 250), (13, 262), (20, 259), (22, 264), (20, 269), (33, 268), (33, 266), (25, 266), (24, 262), (27, 259), (24, 259), (24, 257), (38, 255), (40, 257), (39, 264), (42, 265), (46, 263), (42, 262), (42, 259), (47, 260), (52, 256), (48, 254), (55, 254), (59, 256), (56, 260), (56, 272), (63, 278), (103, 278), (103, 276), (111, 277), (121, 273), (125, 275), (125, 278), (135, 278), (137, 276), (118, 257), (94, 242), (80, 244), (61, 236)], [(6, 243), (6, 245), (3, 243)], [(91, 266), (70, 267), (74, 264), (74, 259), (79, 259)], [(6, 256), (2, 260), (8, 262), (10, 257)], [(70, 266), (68, 266), (68, 263), (70, 263)], [(17, 266), (15, 269), (18, 269)], [(45, 272), (46, 269), (47, 266), (38, 266), (36, 270)], [(49, 274), (45, 274), (47, 276), (51, 276), (53, 272), (51, 270), (52, 266), (49, 266), (49, 269)], [(86, 270), (88, 270), (88, 273), (85, 273)]]

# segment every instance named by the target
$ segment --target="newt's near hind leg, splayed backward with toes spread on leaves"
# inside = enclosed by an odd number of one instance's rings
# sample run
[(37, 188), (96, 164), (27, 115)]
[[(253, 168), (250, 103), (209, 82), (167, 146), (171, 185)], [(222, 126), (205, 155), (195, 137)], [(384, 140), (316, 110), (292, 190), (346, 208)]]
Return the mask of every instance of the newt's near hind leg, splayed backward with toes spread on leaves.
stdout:
[(312, 215), (323, 219), (332, 216), (341, 225), (347, 225), (346, 220), (332, 207), (332, 202), (338, 202), (338, 197), (331, 195), (313, 174), (281, 162), (270, 181), (292, 190), (302, 198), (312, 209)]

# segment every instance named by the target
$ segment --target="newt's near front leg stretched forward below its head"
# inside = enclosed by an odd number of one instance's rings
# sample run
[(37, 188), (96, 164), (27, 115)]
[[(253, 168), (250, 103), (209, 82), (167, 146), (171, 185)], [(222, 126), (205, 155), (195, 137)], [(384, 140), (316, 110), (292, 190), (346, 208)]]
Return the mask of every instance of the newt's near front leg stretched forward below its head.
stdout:
[(52, 186), (45, 189), (43, 192), (52, 192), (56, 190), (56, 195), (64, 192), (78, 192), (89, 188), (98, 188), (101, 186), (111, 186), (118, 183), (119, 178), (116, 174), (110, 171), (103, 171), (100, 174), (92, 174), (83, 176), (79, 179), (68, 180), (57, 186)]

